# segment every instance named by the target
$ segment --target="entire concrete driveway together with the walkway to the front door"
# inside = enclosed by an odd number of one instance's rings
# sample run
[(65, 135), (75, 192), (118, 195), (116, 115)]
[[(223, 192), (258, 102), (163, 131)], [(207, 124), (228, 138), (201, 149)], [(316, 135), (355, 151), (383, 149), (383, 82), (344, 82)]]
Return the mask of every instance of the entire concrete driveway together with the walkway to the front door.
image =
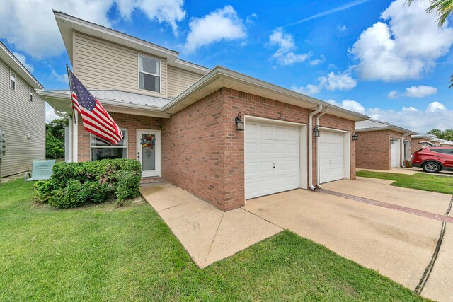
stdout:
[(199, 267), (289, 229), (343, 257), (415, 289), (432, 258), (442, 223), (444, 242), (422, 296), (453, 301), (451, 196), (358, 178), (251, 199), (223, 212), (168, 183), (141, 192)]

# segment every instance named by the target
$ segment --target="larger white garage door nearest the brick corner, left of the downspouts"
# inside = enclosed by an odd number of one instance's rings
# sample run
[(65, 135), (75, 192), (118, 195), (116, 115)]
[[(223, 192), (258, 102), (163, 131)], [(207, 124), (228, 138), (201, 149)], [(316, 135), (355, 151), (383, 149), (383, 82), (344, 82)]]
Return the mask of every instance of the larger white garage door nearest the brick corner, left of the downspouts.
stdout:
[(246, 199), (300, 187), (299, 127), (247, 122)]

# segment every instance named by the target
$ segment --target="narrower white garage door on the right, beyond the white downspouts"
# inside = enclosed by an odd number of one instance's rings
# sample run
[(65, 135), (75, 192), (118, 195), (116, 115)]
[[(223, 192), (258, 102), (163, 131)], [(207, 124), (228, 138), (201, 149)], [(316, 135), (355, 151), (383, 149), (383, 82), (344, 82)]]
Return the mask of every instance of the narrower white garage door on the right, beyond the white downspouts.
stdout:
[(319, 137), (319, 180), (321, 183), (345, 178), (343, 134), (321, 131)]

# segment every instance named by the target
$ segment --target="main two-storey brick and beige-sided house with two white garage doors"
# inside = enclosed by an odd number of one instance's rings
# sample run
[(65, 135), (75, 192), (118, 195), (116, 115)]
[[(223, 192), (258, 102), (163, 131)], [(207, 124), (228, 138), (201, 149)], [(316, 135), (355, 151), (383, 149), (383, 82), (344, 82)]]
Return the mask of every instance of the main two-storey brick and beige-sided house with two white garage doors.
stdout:
[[(125, 134), (117, 146), (103, 146), (78, 122), (73, 161), (136, 158), (144, 177), (163, 178), (223, 210), (314, 187), (318, 179), (355, 178), (352, 134), (355, 122), (369, 117), (220, 66), (185, 62), (178, 52), (65, 13), (55, 11), (55, 18), (74, 74)], [(72, 115), (67, 91), (40, 95)], [(316, 140), (318, 110), (328, 113)], [(239, 113), (245, 125), (236, 124)]]

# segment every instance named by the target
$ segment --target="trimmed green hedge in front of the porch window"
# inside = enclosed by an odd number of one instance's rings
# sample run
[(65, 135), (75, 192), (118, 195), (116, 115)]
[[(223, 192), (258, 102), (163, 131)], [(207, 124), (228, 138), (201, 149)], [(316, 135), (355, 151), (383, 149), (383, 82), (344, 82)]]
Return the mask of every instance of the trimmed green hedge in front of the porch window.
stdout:
[(54, 165), (52, 177), (35, 184), (41, 202), (59, 208), (80, 207), (139, 194), (142, 166), (132, 159), (104, 159)]

